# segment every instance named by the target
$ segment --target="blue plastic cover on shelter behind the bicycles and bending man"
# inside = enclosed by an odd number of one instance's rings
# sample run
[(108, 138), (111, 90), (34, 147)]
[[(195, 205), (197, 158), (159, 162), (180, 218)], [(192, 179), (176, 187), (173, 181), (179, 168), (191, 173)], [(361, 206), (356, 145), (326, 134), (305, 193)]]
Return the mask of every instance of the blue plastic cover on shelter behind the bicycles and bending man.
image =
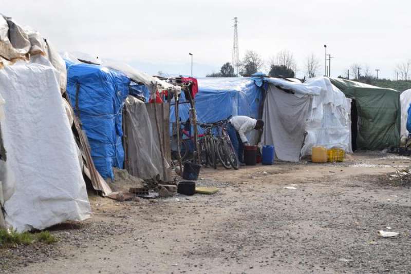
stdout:
[[(232, 115), (246, 115), (258, 119), (261, 88), (250, 78), (199, 78), (195, 97), (197, 119), (200, 123), (215, 122)], [(183, 92), (180, 102), (186, 101)], [(190, 104), (180, 104), (181, 121), (189, 118)], [(175, 122), (174, 106), (170, 122)]]

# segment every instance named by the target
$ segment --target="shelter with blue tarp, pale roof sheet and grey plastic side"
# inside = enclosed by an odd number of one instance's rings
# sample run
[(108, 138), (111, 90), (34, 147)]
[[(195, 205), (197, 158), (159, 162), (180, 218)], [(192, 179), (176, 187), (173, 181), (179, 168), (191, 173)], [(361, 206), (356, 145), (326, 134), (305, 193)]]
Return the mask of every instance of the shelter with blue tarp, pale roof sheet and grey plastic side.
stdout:
[[(103, 61), (84, 53), (64, 53), (63, 56), (68, 66), (67, 91), (70, 101), (83, 123), (93, 160), (103, 177), (114, 179), (113, 167), (123, 168), (125, 163), (131, 175), (151, 179), (159, 174), (161, 180), (170, 181), (169, 105), (145, 106), (130, 98), (127, 100), (129, 111), (126, 110), (124, 118), (122, 111), (128, 94), (150, 97), (159, 91), (179, 93), (180, 88), (126, 64)], [(134, 116), (139, 114), (144, 116)], [(151, 140), (143, 141), (141, 138), (150, 135), (140, 128), (147, 119), (151, 120), (151, 125), (144, 126), (154, 135)], [(128, 132), (125, 136), (123, 129)], [(152, 147), (145, 147), (143, 143)], [(147, 155), (154, 158), (145, 159)]]

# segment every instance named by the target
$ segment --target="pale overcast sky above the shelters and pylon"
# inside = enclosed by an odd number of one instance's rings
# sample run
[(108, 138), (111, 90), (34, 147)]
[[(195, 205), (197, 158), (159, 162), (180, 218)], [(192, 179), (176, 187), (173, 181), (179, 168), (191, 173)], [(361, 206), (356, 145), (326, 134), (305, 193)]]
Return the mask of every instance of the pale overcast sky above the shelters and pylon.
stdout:
[[(293, 53), (297, 76), (310, 54), (332, 54), (331, 76), (353, 63), (380, 69), (411, 59), (409, 0), (106, 1), (0, 0), (0, 13), (38, 30), (60, 52), (85, 52), (125, 61), (156, 74), (217, 72), (231, 62), (233, 18), (238, 17), (240, 58), (257, 52), (268, 65), (281, 50)], [(263, 71), (267, 71), (267, 67)]]

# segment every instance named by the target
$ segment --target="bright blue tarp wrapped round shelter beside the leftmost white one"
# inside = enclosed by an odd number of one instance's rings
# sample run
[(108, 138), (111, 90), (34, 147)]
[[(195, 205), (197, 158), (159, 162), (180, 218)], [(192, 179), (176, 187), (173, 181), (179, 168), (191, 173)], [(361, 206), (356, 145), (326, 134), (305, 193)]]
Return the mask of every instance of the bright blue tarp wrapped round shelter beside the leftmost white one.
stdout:
[(91, 156), (103, 178), (123, 168), (122, 109), (130, 80), (122, 72), (88, 64), (67, 66), (67, 93), (80, 118)]

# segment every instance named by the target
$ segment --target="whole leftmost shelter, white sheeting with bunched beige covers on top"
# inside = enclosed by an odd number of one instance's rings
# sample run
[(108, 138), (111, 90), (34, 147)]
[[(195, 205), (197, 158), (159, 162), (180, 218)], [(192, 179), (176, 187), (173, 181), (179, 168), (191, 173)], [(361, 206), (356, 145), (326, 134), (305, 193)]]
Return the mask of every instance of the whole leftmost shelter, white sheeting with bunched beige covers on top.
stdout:
[(3, 225), (25, 231), (88, 218), (79, 153), (61, 97), (63, 60), (38, 32), (1, 15), (0, 56)]

